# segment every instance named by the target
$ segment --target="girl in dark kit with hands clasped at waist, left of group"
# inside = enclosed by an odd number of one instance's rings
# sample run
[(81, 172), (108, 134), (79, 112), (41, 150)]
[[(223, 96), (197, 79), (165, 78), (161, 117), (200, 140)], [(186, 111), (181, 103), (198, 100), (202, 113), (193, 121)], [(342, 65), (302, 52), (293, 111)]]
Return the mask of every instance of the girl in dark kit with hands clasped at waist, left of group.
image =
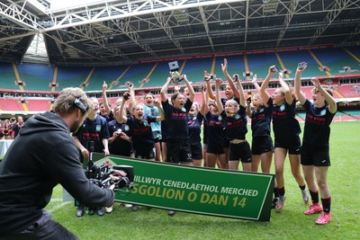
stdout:
[(114, 108), (115, 120), (108, 123), (109, 134), (112, 136), (108, 139), (109, 151), (112, 155), (134, 157), (130, 127), (122, 121), (120, 109), (121, 106)]

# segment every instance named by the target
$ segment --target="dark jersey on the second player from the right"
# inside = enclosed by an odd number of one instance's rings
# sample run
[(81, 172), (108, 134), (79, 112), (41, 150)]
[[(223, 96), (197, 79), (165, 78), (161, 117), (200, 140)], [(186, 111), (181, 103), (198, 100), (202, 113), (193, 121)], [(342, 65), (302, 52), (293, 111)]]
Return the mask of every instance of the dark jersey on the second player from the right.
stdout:
[[(270, 98), (269, 98), (270, 100)], [(299, 121), (295, 118), (296, 102), (290, 105), (286, 101), (282, 105), (270, 105), (273, 111), (273, 130), (275, 139), (293, 139), (302, 132)]]

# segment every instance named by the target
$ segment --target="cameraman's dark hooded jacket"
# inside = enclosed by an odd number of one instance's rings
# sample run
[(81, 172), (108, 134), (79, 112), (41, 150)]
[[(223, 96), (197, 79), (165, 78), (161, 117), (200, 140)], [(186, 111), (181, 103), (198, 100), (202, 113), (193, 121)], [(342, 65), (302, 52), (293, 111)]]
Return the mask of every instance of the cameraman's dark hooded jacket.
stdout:
[(31, 226), (58, 183), (88, 206), (109, 206), (114, 199), (113, 191), (86, 179), (65, 121), (45, 112), (26, 121), (0, 164), (0, 233)]

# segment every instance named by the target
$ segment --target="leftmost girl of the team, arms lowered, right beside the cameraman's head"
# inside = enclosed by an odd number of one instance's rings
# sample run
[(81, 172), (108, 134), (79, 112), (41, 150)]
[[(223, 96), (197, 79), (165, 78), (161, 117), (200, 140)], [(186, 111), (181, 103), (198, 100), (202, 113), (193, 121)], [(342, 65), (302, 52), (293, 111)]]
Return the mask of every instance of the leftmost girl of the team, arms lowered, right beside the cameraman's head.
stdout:
[[(87, 119), (84, 121), (83, 125), (73, 134), (74, 141), (76, 146), (80, 149), (81, 160), (84, 161), (84, 158), (89, 159), (90, 157), (90, 144), (94, 143), (94, 152), (103, 153), (105, 156), (109, 155), (108, 147), (108, 138), (109, 128), (106, 120), (98, 114), (99, 112), (99, 102), (96, 98), (90, 98), (90, 101), (93, 103), (93, 108), (89, 111)], [(89, 214), (96, 214), (103, 216), (104, 211), (102, 208), (90, 209)], [(107, 208), (107, 212), (111, 212), (112, 208)], [(76, 217), (80, 218), (84, 216), (84, 205), (80, 203), (76, 209)]]

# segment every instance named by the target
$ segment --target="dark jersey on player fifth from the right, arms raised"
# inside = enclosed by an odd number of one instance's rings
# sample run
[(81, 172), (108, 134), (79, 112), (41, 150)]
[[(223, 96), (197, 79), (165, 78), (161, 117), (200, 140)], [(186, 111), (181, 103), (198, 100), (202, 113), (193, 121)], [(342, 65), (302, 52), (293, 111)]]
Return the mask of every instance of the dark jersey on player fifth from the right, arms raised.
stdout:
[(222, 146), (222, 142), (225, 137), (225, 122), (222, 117), (215, 116), (210, 111), (206, 113), (205, 119), (208, 128), (208, 144), (220, 144)]

